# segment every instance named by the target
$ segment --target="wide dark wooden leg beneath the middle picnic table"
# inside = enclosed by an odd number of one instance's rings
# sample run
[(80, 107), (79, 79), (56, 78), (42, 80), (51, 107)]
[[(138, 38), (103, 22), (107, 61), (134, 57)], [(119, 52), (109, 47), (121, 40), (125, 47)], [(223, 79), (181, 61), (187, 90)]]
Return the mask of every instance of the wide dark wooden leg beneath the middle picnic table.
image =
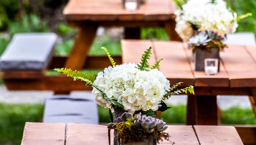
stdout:
[(197, 125), (218, 125), (216, 96), (195, 96), (195, 123)]

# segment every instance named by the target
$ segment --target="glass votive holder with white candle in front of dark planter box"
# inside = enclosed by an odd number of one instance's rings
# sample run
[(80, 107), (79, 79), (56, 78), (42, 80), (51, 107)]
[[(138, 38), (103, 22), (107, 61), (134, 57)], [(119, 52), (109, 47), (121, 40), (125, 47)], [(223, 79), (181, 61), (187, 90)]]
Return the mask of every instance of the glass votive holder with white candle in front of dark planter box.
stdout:
[(204, 60), (204, 71), (206, 75), (216, 75), (218, 72), (219, 60), (215, 58), (206, 58)]

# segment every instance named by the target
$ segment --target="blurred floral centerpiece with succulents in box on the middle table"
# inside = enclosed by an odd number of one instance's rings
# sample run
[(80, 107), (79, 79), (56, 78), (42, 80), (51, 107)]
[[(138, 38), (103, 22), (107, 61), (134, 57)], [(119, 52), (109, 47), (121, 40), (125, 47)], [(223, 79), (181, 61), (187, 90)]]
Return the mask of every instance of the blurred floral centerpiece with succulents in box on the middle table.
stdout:
[(178, 6), (175, 30), (184, 42), (191, 44), (192, 52), (197, 53), (196, 70), (204, 70), (205, 58), (219, 59), (219, 52), (227, 47), (224, 44), (226, 34), (234, 33), (237, 22), (251, 15), (237, 16), (224, 0), (174, 1)]

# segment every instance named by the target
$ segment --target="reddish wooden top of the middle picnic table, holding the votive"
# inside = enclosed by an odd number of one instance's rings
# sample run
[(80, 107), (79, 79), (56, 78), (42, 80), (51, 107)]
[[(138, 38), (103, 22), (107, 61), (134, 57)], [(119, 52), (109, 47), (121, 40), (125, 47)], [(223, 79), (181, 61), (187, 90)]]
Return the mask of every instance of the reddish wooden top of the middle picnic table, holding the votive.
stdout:
[(220, 72), (207, 76), (205, 72), (195, 71), (191, 61), (191, 50), (182, 42), (122, 40), (122, 61), (139, 63), (144, 51), (152, 46), (152, 65), (159, 58), (159, 70), (171, 84), (184, 82), (183, 86), (197, 87), (256, 87), (256, 46), (229, 45), (220, 53)]

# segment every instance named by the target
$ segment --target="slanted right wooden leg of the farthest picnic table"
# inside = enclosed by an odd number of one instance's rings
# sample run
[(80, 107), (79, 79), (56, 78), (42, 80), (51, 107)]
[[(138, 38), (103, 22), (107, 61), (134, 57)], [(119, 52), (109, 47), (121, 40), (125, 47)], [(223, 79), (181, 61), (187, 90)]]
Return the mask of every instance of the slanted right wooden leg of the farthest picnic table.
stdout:
[(175, 31), (176, 22), (175, 21), (166, 21), (164, 22), (165, 30), (172, 41), (182, 41), (177, 32)]

